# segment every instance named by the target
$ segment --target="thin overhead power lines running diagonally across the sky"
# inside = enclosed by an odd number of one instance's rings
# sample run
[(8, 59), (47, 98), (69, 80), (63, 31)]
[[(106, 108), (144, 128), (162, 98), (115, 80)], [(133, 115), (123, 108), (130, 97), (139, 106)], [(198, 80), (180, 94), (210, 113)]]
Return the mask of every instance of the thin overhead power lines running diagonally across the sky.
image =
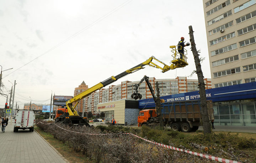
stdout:
[[(65, 40), (63, 40), (62, 42), (60, 42), (59, 44), (55, 45), (54, 47), (52, 47), (51, 49), (47, 50), (46, 52), (44, 52), (43, 54), (37, 56), (36, 58), (34, 58), (33, 60), (29, 61), (28, 63), (24, 64), (23, 66), (21, 66), (20, 68), (26, 66), (27, 64), (33, 62), (34, 60), (38, 59), (39, 57), (46, 55), (48, 52), (56, 49), (57, 47), (59, 47), (60, 45), (64, 44), (66, 41), (74, 38), (75, 36), (79, 35), (80, 33), (84, 32), (85, 30), (91, 28), (92, 26), (94, 26), (95, 24), (97, 24), (98, 22), (101, 22), (103, 19), (107, 18), (108, 16), (112, 15), (112, 13), (118, 11), (119, 9), (121, 9), (122, 7), (126, 6), (128, 3), (130, 3), (133, 0), (127, 0), (124, 3), (122, 3), (121, 5), (117, 6), (116, 8), (114, 8), (113, 10), (111, 10), (110, 12), (106, 13), (105, 15), (103, 15), (102, 17), (98, 18), (97, 20), (95, 20), (94, 22), (90, 23), (89, 25), (87, 25), (86, 27), (84, 27), (83, 29), (81, 29), (80, 31), (74, 33), (73, 35), (69, 36), (68, 38), (66, 38)], [(9, 76), (10, 74), (14, 73), (15, 71), (17, 71), (18, 69), (12, 71), (11, 73), (7, 74), (5, 77)], [(5, 77), (2, 77), (2, 79), (4, 79)]]

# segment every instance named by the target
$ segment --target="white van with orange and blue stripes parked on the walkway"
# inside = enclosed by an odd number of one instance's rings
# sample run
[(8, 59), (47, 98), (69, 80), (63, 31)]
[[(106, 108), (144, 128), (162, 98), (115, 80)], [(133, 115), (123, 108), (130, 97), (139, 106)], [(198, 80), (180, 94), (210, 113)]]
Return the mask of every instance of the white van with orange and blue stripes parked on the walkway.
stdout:
[(14, 122), (14, 132), (18, 132), (18, 129), (30, 129), (30, 132), (34, 131), (34, 112), (28, 110), (18, 111), (15, 122)]

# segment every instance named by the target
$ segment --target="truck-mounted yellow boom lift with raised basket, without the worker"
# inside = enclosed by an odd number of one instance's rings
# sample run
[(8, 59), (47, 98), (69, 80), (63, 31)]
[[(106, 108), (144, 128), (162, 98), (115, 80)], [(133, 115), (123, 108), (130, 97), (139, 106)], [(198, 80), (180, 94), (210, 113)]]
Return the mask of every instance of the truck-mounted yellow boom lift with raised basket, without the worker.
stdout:
[[(172, 54), (172, 61), (171, 61), (171, 65), (168, 66), (167, 64), (165, 64), (164, 62), (159, 61), (158, 59), (156, 59), (154, 56), (150, 57), (148, 60), (146, 60), (145, 62), (142, 62), (140, 64), (138, 64), (137, 66), (130, 68), (124, 72), (122, 72), (121, 74), (118, 74), (116, 76), (112, 76), (94, 86), (92, 86), (91, 88), (81, 92), (80, 94), (76, 95), (73, 99), (70, 99), (69, 101), (66, 102), (66, 109), (68, 111), (68, 116), (64, 114), (64, 116), (62, 117), (58, 117), (56, 118), (55, 122), (60, 122), (60, 123), (64, 123), (64, 124), (68, 124), (70, 126), (72, 125), (86, 125), (88, 127), (90, 127), (90, 125), (87, 123), (87, 120), (85, 117), (80, 117), (79, 114), (77, 113), (77, 111), (75, 110), (75, 107), (78, 105), (79, 101), (84, 99), (85, 97), (89, 96), (90, 94), (92, 94), (93, 92), (100, 90), (101, 88), (113, 83), (114, 81), (128, 75), (131, 73), (134, 73), (140, 69), (145, 68), (145, 65), (151, 66), (151, 67), (155, 67), (155, 68), (159, 68), (162, 70), (162, 73), (169, 71), (170, 69), (175, 69), (175, 68), (181, 68), (181, 67), (185, 67), (188, 65), (187, 63), (187, 50), (184, 49), (184, 55), (183, 55), (183, 59), (177, 59), (177, 55), (180, 55), (180, 53), (177, 52), (177, 46), (170, 46), (170, 48), (172, 49), (171, 52)], [(159, 64), (161, 66), (159, 66)], [(72, 103), (75, 103), (75, 105), (73, 106)], [(65, 111), (66, 112), (66, 111)]]

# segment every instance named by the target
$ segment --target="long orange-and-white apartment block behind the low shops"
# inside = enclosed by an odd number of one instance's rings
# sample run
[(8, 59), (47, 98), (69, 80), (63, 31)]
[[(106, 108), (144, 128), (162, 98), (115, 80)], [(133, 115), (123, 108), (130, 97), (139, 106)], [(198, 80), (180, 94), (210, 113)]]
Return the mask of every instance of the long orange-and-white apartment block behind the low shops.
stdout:
[[(122, 84), (111, 85), (108, 89), (100, 89), (100, 91), (93, 92), (84, 99), (85, 112), (92, 112), (95, 114), (97, 112), (98, 103), (131, 99), (131, 95), (134, 92), (134, 85), (139, 82), (140, 81), (122, 81)], [(187, 77), (177, 77), (176, 79), (156, 79), (151, 77), (149, 78), (149, 82), (154, 90), (156, 90), (156, 82), (158, 82), (160, 96), (199, 90), (198, 80), (187, 79)], [(204, 83), (206, 84), (206, 89), (212, 88), (211, 79), (204, 79)], [(139, 86), (139, 93), (142, 95), (142, 99), (152, 98), (151, 92), (145, 81)]]

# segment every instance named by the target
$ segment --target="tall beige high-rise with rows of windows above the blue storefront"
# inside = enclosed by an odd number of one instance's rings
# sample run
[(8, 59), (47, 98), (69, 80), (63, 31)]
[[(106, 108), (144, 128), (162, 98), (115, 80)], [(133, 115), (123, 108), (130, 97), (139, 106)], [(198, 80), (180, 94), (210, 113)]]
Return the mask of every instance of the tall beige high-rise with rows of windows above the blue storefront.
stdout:
[(256, 0), (203, 0), (213, 88), (256, 80)]

